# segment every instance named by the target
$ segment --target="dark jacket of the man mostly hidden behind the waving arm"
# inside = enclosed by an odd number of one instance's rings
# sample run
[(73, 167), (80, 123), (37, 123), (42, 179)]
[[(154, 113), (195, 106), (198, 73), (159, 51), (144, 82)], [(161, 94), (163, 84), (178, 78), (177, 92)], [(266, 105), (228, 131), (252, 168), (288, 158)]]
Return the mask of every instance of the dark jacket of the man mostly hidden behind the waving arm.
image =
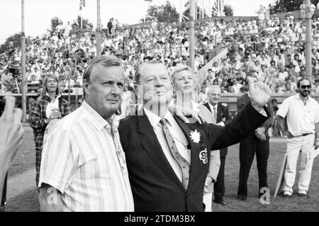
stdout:
[[(247, 93), (237, 98), (237, 113), (239, 113), (248, 102), (250, 102), (250, 97)], [(274, 109), (272, 108), (272, 101), (268, 101), (266, 108), (272, 116), (264, 121), (261, 126), (266, 129), (264, 134), (269, 137), (268, 128), (272, 127), (272, 123), (274, 123)], [(257, 137), (254, 135), (254, 132), (252, 132), (251, 136), (257, 139)]]

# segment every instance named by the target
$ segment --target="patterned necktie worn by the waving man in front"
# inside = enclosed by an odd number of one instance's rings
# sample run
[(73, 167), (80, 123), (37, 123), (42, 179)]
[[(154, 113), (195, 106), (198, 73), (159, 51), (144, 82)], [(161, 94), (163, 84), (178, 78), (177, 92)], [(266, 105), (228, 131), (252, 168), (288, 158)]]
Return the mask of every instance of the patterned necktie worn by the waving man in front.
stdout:
[(186, 159), (184, 159), (184, 157), (181, 156), (181, 154), (179, 154), (175, 141), (171, 133), (169, 132), (169, 128), (167, 128), (166, 120), (162, 118), (160, 120), (160, 123), (163, 126), (163, 131), (167, 141), (167, 145), (169, 146), (169, 150), (171, 151), (174, 159), (178, 162), (179, 166), (181, 167), (181, 172), (182, 172), (181, 183), (183, 183), (185, 190), (187, 190), (187, 186), (189, 185), (189, 163), (186, 161)]

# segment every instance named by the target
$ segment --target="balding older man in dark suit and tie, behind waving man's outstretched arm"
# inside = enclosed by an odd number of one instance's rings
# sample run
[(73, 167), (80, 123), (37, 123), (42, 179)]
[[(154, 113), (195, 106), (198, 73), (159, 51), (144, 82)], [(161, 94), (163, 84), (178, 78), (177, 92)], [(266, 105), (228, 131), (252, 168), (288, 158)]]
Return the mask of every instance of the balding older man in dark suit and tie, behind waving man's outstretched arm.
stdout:
[[(208, 108), (209, 111), (216, 118), (217, 125), (225, 126), (230, 123), (233, 119), (229, 113), (228, 106), (224, 106), (223, 103), (219, 103), (220, 100), (220, 87), (219, 86), (211, 86), (208, 89), (208, 103), (205, 103), (204, 106)], [(215, 109), (214, 109), (215, 108)], [(214, 183), (214, 202), (220, 203), (222, 205), (227, 205), (223, 196), (225, 194), (225, 160), (226, 154), (228, 152), (228, 148), (220, 149), (220, 168), (218, 171), (217, 180)], [(209, 174), (209, 172), (208, 172)]]

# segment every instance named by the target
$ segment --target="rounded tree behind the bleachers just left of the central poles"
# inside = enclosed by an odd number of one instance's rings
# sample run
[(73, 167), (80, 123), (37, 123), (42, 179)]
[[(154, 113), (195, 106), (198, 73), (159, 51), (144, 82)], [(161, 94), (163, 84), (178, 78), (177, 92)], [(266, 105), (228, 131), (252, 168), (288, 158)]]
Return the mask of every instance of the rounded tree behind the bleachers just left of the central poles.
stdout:
[(161, 6), (150, 6), (147, 9), (147, 17), (151, 19), (157, 18), (159, 22), (172, 23), (179, 21), (179, 13), (169, 1)]

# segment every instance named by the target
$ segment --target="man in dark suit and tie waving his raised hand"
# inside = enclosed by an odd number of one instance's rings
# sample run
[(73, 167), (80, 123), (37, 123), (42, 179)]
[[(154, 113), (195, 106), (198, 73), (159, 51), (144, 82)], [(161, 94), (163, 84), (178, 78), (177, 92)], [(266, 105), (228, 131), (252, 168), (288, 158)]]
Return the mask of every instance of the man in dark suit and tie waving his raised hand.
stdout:
[[(270, 96), (261, 89), (251, 89), (251, 103), (225, 127), (206, 123), (186, 125), (167, 111), (172, 98), (172, 82), (164, 64), (142, 64), (135, 79), (143, 89), (144, 106), (138, 115), (121, 120), (118, 128), (135, 211), (203, 211), (203, 189), (210, 157), (208, 152), (239, 142), (267, 120), (269, 116), (264, 116), (268, 113), (263, 106)], [(186, 138), (185, 149), (177, 148), (180, 153), (186, 151), (191, 162), (186, 188), (182, 183), (184, 175), (181, 181), (183, 169), (177, 169), (176, 162), (172, 162), (172, 157), (167, 154), (167, 149), (171, 149), (169, 142), (162, 142), (164, 126), (161, 127), (159, 121), (163, 118), (168, 121), (167, 127), (171, 126), (169, 132), (172, 137), (176, 135), (173, 134), (175, 130), (181, 130), (177, 135)], [(174, 142), (179, 142), (179, 139), (174, 137)]]

